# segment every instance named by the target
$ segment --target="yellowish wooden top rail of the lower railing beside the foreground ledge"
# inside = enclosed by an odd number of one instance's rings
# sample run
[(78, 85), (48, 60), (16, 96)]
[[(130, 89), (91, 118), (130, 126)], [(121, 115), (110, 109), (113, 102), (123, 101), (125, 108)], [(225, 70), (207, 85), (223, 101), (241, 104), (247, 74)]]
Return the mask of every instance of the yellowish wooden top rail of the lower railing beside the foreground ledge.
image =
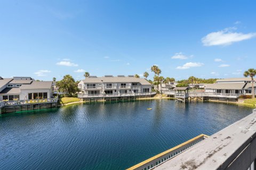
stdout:
[(157, 158), (159, 158), (159, 157), (162, 157), (162, 156), (168, 154), (169, 152), (171, 152), (171, 151), (173, 151), (173, 150), (175, 150), (175, 149), (178, 149), (178, 148), (180, 148), (180, 147), (182, 147), (182, 146), (185, 146), (185, 145), (187, 145), (188, 143), (193, 142), (194, 140), (196, 140), (196, 139), (198, 139), (198, 138), (201, 138), (201, 137), (209, 138), (208, 135), (200, 134), (200, 135), (198, 135), (198, 136), (195, 137), (195, 138), (192, 138), (192, 139), (190, 139), (190, 140), (188, 140), (188, 141), (186, 141), (186, 142), (184, 142), (184, 143), (181, 143), (181, 144), (178, 145), (178, 146), (175, 146), (175, 147), (173, 147), (173, 148), (171, 148), (171, 149), (168, 149), (168, 150), (166, 150), (166, 151), (164, 151), (164, 152), (162, 152), (162, 153), (160, 153), (160, 154), (158, 154), (158, 155), (156, 155), (156, 156), (153, 156), (153, 157), (151, 157), (151, 158), (149, 158), (149, 159), (147, 159), (147, 160), (144, 160), (143, 162), (141, 162), (141, 163), (139, 163), (139, 164), (137, 164), (137, 165), (134, 165), (134, 166), (132, 166), (132, 167), (126, 169), (126, 170), (132, 170), (132, 169), (139, 168), (139, 167), (141, 167), (142, 165), (145, 165), (145, 164), (151, 162), (152, 160), (155, 160), (155, 159), (157, 159)]

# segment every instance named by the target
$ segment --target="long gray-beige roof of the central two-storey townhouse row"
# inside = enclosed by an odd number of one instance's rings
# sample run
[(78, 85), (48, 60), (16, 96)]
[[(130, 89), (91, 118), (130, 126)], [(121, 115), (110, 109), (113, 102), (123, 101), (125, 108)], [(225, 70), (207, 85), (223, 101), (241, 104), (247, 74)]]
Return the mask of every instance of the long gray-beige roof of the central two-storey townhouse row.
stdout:
[(121, 82), (139, 82), (142, 85), (151, 85), (147, 80), (143, 78), (135, 77), (97, 77), (97, 78), (86, 78), (83, 80), (84, 83), (121, 83)]

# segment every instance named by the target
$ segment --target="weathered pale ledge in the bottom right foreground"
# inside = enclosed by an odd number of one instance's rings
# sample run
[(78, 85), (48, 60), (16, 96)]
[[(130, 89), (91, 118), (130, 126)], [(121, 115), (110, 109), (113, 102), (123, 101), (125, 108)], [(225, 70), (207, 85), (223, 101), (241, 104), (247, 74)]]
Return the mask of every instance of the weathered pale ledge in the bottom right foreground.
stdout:
[(256, 158), (256, 109), (154, 169), (248, 169)]

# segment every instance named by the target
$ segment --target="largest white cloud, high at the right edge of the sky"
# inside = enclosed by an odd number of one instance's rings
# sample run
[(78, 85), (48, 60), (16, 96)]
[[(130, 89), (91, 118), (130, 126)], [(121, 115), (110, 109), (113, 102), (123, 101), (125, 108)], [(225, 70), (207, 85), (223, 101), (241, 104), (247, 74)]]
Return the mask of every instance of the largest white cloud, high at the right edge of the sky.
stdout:
[(227, 28), (218, 32), (211, 32), (201, 39), (202, 43), (204, 46), (227, 46), (256, 36), (255, 32), (244, 34), (241, 32), (233, 32), (232, 30), (234, 29), (236, 28)]

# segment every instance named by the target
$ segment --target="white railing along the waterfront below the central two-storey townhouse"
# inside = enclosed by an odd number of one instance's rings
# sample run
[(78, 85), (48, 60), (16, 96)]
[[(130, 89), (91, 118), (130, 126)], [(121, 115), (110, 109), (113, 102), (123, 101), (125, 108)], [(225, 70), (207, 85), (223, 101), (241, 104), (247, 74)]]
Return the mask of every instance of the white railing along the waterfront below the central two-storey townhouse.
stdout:
[(138, 93), (127, 93), (127, 94), (78, 94), (78, 98), (104, 98), (104, 97), (130, 97), (130, 96), (151, 96), (155, 95), (156, 92), (138, 92)]

